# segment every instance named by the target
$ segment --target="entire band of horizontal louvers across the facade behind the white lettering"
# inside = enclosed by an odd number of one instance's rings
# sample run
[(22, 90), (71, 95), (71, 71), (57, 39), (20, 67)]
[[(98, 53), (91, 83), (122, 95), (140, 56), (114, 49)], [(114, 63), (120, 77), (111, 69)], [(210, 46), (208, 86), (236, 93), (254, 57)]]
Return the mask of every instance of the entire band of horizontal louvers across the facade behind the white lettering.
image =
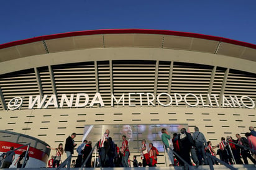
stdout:
[[(95, 63), (96, 65), (94, 65)], [(113, 92), (117, 100), (120, 99), (123, 93), (125, 94), (125, 107), (129, 106), (129, 92), (144, 93), (142, 94), (142, 105), (140, 105), (140, 96), (132, 95), (134, 100), (132, 100), (131, 104), (134, 107), (147, 106), (147, 96), (145, 95), (147, 92), (155, 94), (155, 97), (160, 93), (170, 92), (172, 99), (174, 99), (175, 93), (181, 94), (182, 97), (185, 97), (188, 93), (193, 93), (198, 97), (199, 94), (203, 94), (203, 101), (206, 103), (206, 94), (208, 94), (211, 79), (213, 79), (211, 94), (216, 95), (217, 100), (219, 100), (221, 91), (227, 97), (235, 95), (237, 97), (249, 96), (255, 100), (255, 74), (229, 69), (226, 87), (224, 88), (224, 75), (227, 69), (217, 67), (213, 78), (211, 78), (213, 68), (213, 66), (207, 65), (149, 60), (114, 60), (111, 62), (107, 60), (70, 63), (52, 66), (55, 87), (52, 87), (48, 66), (37, 68), (37, 70), (39, 72), (39, 82), (42, 86), (42, 94), (48, 95), (47, 100), (53, 94), (53, 89), (56, 88), (58, 103), (60, 103), (62, 94), (66, 94), (68, 97), (71, 94), (75, 94), (73, 107), (75, 106), (77, 93), (88, 94), (89, 102), (91, 102), (96, 92), (101, 93), (105, 107), (111, 107), (111, 92)], [(96, 78), (98, 78), (97, 81)], [(28, 108), (29, 96), (40, 95), (34, 69), (1, 75), (0, 87), (6, 105), (14, 97), (24, 97), (24, 104), (21, 109)], [(85, 99), (80, 99), (80, 102), (84, 101)], [(163, 104), (169, 102), (168, 97), (164, 95), (160, 97), (159, 101)], [(195, 104), (193, 96), (187, 97), (186, 101), (190, 104)], [(217, 107), (213, 96), (211, 101), (213, 101), (213, 107)], [(247, 99), (244, 102), (248, 105), (252, 104)], [(122, 101), (118, 106), (122, 106)], [(158, 107), (159, 105), (157, 104), (156, 106)], [(175, 102), (173, 101), (170, 106), (175, 106)], [(201, 107), (202, 104), (198, 106)], [(65, 107), (67, 107), (66, 104), (64, 104)], [(86, 107), (89, 107), (89, 103)], [(99, 105), (93, 105), (93, 107), (99, 107)], [(114, 102), (114, 107), (117, 107), (117, 102)], [(178, 107), (187, 107), (187, 105), (183, 100), (178, 103)], [(36, 108), (37, 104), (35, 104), (34, 109)], [(48, 107), (48, 109), (51, 108), (54, 108), (53, 105)]]

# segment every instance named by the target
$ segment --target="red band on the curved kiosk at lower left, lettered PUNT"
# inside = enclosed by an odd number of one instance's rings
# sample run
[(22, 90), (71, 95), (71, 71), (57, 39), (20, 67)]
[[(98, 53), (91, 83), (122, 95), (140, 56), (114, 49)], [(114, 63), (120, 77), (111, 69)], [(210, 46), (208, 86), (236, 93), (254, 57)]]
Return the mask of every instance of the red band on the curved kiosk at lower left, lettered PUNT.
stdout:
[[(0, 146), (1, 146), (0, 152), (6, 153), (7, 151), (10, 150), (11, 146), (14, 146), (14, 149), (16, 149), (21, 147), (22, 145), (19, 143), (0, 141)], [(25, 146), (24, 148), (21, 148), (20, 150), (16, 150), (15, 153), (22, 154), (22, 152), (24, 152), (25, 150), (27, 150), (27, 146)], [(45, 163), (47, 163), (48, 161), (48, 154), (44, 153), (43, 151), (37, 150), (36, 148), (33, 148), (31, 146), (29, 147), (29, 156), (31, 158), (39, 159)]]

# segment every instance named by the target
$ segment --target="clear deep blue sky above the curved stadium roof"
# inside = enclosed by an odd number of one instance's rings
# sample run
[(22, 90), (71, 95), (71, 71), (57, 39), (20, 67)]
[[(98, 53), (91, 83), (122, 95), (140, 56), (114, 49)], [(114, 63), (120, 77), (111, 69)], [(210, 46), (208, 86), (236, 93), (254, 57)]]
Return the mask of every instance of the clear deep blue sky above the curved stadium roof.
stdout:
[(96, 29), (174, 30), (256, 44), (256, 1), (0, 1), (0, 44)]

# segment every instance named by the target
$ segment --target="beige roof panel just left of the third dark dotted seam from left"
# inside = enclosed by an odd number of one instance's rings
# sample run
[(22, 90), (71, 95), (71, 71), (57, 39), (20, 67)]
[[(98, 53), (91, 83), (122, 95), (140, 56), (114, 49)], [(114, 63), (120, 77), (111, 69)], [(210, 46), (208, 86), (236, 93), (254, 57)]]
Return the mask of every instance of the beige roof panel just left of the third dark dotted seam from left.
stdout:
[(135, 34), (134, 47), (162, 48), (163, 35)]

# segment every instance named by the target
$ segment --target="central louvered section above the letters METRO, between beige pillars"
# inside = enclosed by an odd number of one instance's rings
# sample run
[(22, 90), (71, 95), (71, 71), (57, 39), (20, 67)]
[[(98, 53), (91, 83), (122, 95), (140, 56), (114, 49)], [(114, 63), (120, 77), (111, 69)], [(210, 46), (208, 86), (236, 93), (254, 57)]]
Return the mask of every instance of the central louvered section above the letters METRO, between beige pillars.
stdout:
[[(155, 61), (122, 60), (112, 61), (113, 92), (118, 99), (126, 94), (126, 106), (128, 106), (129, 92), (154, 92)], [(135, 106), (140, 107), (139, 95), (132, 96)], [(147, 105), (147, 97), (142, 95), (142, 105)], [(119, 104), (120, 105), (120, 104)], [(117, 104), (115, 103), (115, 106)]]

